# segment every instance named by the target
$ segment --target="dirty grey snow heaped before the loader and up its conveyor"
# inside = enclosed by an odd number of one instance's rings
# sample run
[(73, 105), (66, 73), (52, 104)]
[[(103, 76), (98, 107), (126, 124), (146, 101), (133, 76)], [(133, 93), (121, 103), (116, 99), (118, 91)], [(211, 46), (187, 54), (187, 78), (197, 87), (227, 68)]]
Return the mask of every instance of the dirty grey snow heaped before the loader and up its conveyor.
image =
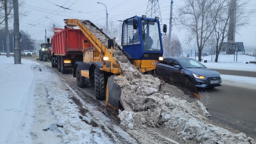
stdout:
[[(84, 25), (107, 46), (107, 37), (88, 23)], [(105, 37), (105, 38), (104, 38)], [(120, 111), (121, 125), (134, 127), (166, 127), (179, 131), (184, 140), (202, 143), (253, 143), (244, 133), (233, 134), (228, 130), (205, 124), (210, 116), (200, 101), (189, 103), (190, 98), (178, 88), (151, 75), (143, 75), (127, 57), (114, 47), (114, 58), (125, 72), (114, 77), (122, 90), (121, 99), (126, 111)]]

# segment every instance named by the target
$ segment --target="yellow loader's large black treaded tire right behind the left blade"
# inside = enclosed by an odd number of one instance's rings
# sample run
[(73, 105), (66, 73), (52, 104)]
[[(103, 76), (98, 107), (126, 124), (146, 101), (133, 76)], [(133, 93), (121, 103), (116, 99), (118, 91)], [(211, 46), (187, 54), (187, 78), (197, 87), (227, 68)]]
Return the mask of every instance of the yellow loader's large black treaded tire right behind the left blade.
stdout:
[(105, 98), (105, 80), (102, 71), (94, 69), (94, 87), (95, 87), (95, 97), (96, 99)]

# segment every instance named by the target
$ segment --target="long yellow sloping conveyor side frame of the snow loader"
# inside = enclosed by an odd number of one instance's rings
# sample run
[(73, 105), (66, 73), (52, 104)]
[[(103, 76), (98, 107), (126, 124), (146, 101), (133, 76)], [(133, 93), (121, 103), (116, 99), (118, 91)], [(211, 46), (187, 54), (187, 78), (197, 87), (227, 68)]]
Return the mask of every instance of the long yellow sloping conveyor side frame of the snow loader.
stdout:
[[(111, 48), (111, 53), (108, 51), (107, 47), (102, 44), (92, 33), (91, 31), (84, 26), (84, 24), (79, 19), (66, 19), (65, 22), (67, 25), (77, 26), (84, 35), (90, 40), (90, 42), (95, 46), (95, 48), (99, 51), (100, 54), (104, 54), (102, 56), (107, 56), (109, 60), (111, 61), (111, 68), (106, 68), (106, 62), (103, 61), (103, 68), (100, 68), (100, 70), (111, 72), (114, 74), (123, 74), (124, 72), (120, 68), (120, 66), (117, 64), (117, 62), (113, 58), (113, 48)], [(101, 61), (99, 59), (99, 61)], [(115, 68), (113, 68), (113, 64)]]

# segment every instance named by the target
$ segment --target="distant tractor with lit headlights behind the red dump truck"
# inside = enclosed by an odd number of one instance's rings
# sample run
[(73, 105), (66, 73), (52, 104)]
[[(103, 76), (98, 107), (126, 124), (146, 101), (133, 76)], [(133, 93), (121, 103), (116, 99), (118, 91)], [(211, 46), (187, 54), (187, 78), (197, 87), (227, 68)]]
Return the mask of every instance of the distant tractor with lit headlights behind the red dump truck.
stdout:
[(47, 39), (47, 43), (41, 44), (41, 49), (39, 50), (39, 60), (40, 61), (48, 61), (51, 60), (51, 44), (49, 43), (49, 39)]

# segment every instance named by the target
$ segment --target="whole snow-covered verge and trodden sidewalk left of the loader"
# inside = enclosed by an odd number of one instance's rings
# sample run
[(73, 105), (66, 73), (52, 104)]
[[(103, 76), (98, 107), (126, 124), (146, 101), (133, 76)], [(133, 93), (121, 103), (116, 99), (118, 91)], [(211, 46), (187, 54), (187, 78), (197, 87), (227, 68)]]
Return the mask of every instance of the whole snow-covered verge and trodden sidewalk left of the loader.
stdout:
[(79, 97), (46, 66), (26, 59), (14, 64), (6, 56), (0, 61), (1, 144), (114, 142), (104, 123), (87, 107), (78, 108), (73, 99)]

